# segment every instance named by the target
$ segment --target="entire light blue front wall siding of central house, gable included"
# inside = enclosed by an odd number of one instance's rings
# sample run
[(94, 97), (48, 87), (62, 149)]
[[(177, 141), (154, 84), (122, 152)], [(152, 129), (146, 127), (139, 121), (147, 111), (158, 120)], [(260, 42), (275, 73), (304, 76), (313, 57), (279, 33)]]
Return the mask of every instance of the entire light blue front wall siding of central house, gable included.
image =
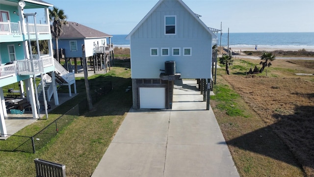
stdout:
[[(176, 16), (176, 35), (165, 35), (164, 18)], [(212, 36), (178, 1), (165, 0), (131, 35), (132, 79), (157, 79), (165, 61), (176, 61), (176, 72), (182, 79), (210, 78)], [(150, 49), (158, 56), (151, 57)], [(161, 48), (169, 48), (169, 56), (161, 56)], [(180, 56), (172, 49), (180, 48)], [(183, 56), (183, 48), (191, 48), (191, 56)]]

